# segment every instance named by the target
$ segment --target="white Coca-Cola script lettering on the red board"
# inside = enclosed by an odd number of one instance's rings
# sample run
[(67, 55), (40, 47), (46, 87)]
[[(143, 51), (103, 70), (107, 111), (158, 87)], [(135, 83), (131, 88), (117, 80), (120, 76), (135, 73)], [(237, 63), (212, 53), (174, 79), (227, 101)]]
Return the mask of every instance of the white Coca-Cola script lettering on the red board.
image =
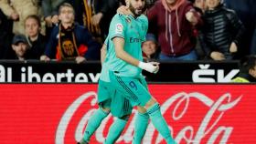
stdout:
[[(84, 104), (84, 101), (91, 99), (91, 109), (84, 109), (85, 114), (80, 118), (77, 127), (74, 130), (74, 139), (79, 141), (83, 136), (83, 130), (91, 117), (92, 112), (97, 105), (97, 94), (94, 91), (87, 92), (77, 98), (69, 105), (56, 131), (56, 144), (64, 144), (66, 131), (69, 129), (69, 122), (74, 117), (74, 113)], [(232, 108), (235, 108), (241, 100), (242, 96), (232, 98), (231, 94), (226, 93), (216, 99), (210, 98), (202, 93), (179, 92), (173, 96), (165, 98), (161, 104), (162, 114), (165, 116), (171, 130), (173, 138), (177, 143), (199, 144), (199, 143), (227, 143), (233, 130), (232, 125), (220, 123), (225, 114), (228, 115)], [(197, 103), (198, 107), (195, 107)], [(88, 103), (87, 103), (88, 104)], [(201, 111), (199, 111), (200, 109)], [(135, 110), (133, 110), (133, 114)], [(197, 115), (196, 115), (197, 114)], [(131, 143), (133, 140), (133, 117), (128, 123), (128, 127), (124, 129), (123, 135), (117, 140), (119, 142)], [(193, 116), (195, 116), (193, 118)], [(99, 143), (104, 140), (103, 131), (109, 129), (107, 123), (112, 116), (105, 118), (101, 127), (95, 133), (95, 139)], [(192, 121), (196, 122), (192, 122)], [(171, 122), (170, 122), (171, 121)], [(188, 121), (188, 122), (187, 122)], [(178, 124), (178, 126), (177, 126)], [(164, 139), (158, 134), (153, 124), (150, 122), (146, 130), (143, 143), (162, 143)]]

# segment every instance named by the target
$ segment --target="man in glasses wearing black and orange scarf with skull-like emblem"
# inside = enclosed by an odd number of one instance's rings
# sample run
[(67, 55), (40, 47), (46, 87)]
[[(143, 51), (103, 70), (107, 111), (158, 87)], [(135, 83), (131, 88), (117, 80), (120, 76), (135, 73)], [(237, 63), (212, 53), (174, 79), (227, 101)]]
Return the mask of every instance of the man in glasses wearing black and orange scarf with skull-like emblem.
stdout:
[(96, 43), (89, 31), (74, 23), (75, 14), (72, 5), (59, 6), (59, 26), (53, 28), (45, 54), (41, 60), (86, 60), (100, 59), (100, 44)]

